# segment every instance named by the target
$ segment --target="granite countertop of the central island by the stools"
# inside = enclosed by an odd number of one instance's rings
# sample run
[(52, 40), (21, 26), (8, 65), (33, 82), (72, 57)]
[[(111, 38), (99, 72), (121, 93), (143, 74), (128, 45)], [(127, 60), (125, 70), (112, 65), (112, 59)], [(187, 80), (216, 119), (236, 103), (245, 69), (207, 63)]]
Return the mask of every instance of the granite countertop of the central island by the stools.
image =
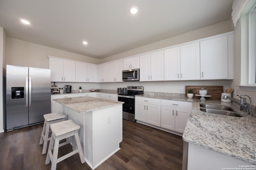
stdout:
[(58, 102), (64, 106), (77, 111), (78, 113), (86, 113), (89, 111), (94, 111), (98, 109), (104, 109), (106, 107), (115, 106), (118, 104), (123, 104), (124, 102), (117, 102), (114, 100), (107, 100), (94, 97), (74, 97), (74, 98), (62, 98), (54, 99), (55, 102)]

